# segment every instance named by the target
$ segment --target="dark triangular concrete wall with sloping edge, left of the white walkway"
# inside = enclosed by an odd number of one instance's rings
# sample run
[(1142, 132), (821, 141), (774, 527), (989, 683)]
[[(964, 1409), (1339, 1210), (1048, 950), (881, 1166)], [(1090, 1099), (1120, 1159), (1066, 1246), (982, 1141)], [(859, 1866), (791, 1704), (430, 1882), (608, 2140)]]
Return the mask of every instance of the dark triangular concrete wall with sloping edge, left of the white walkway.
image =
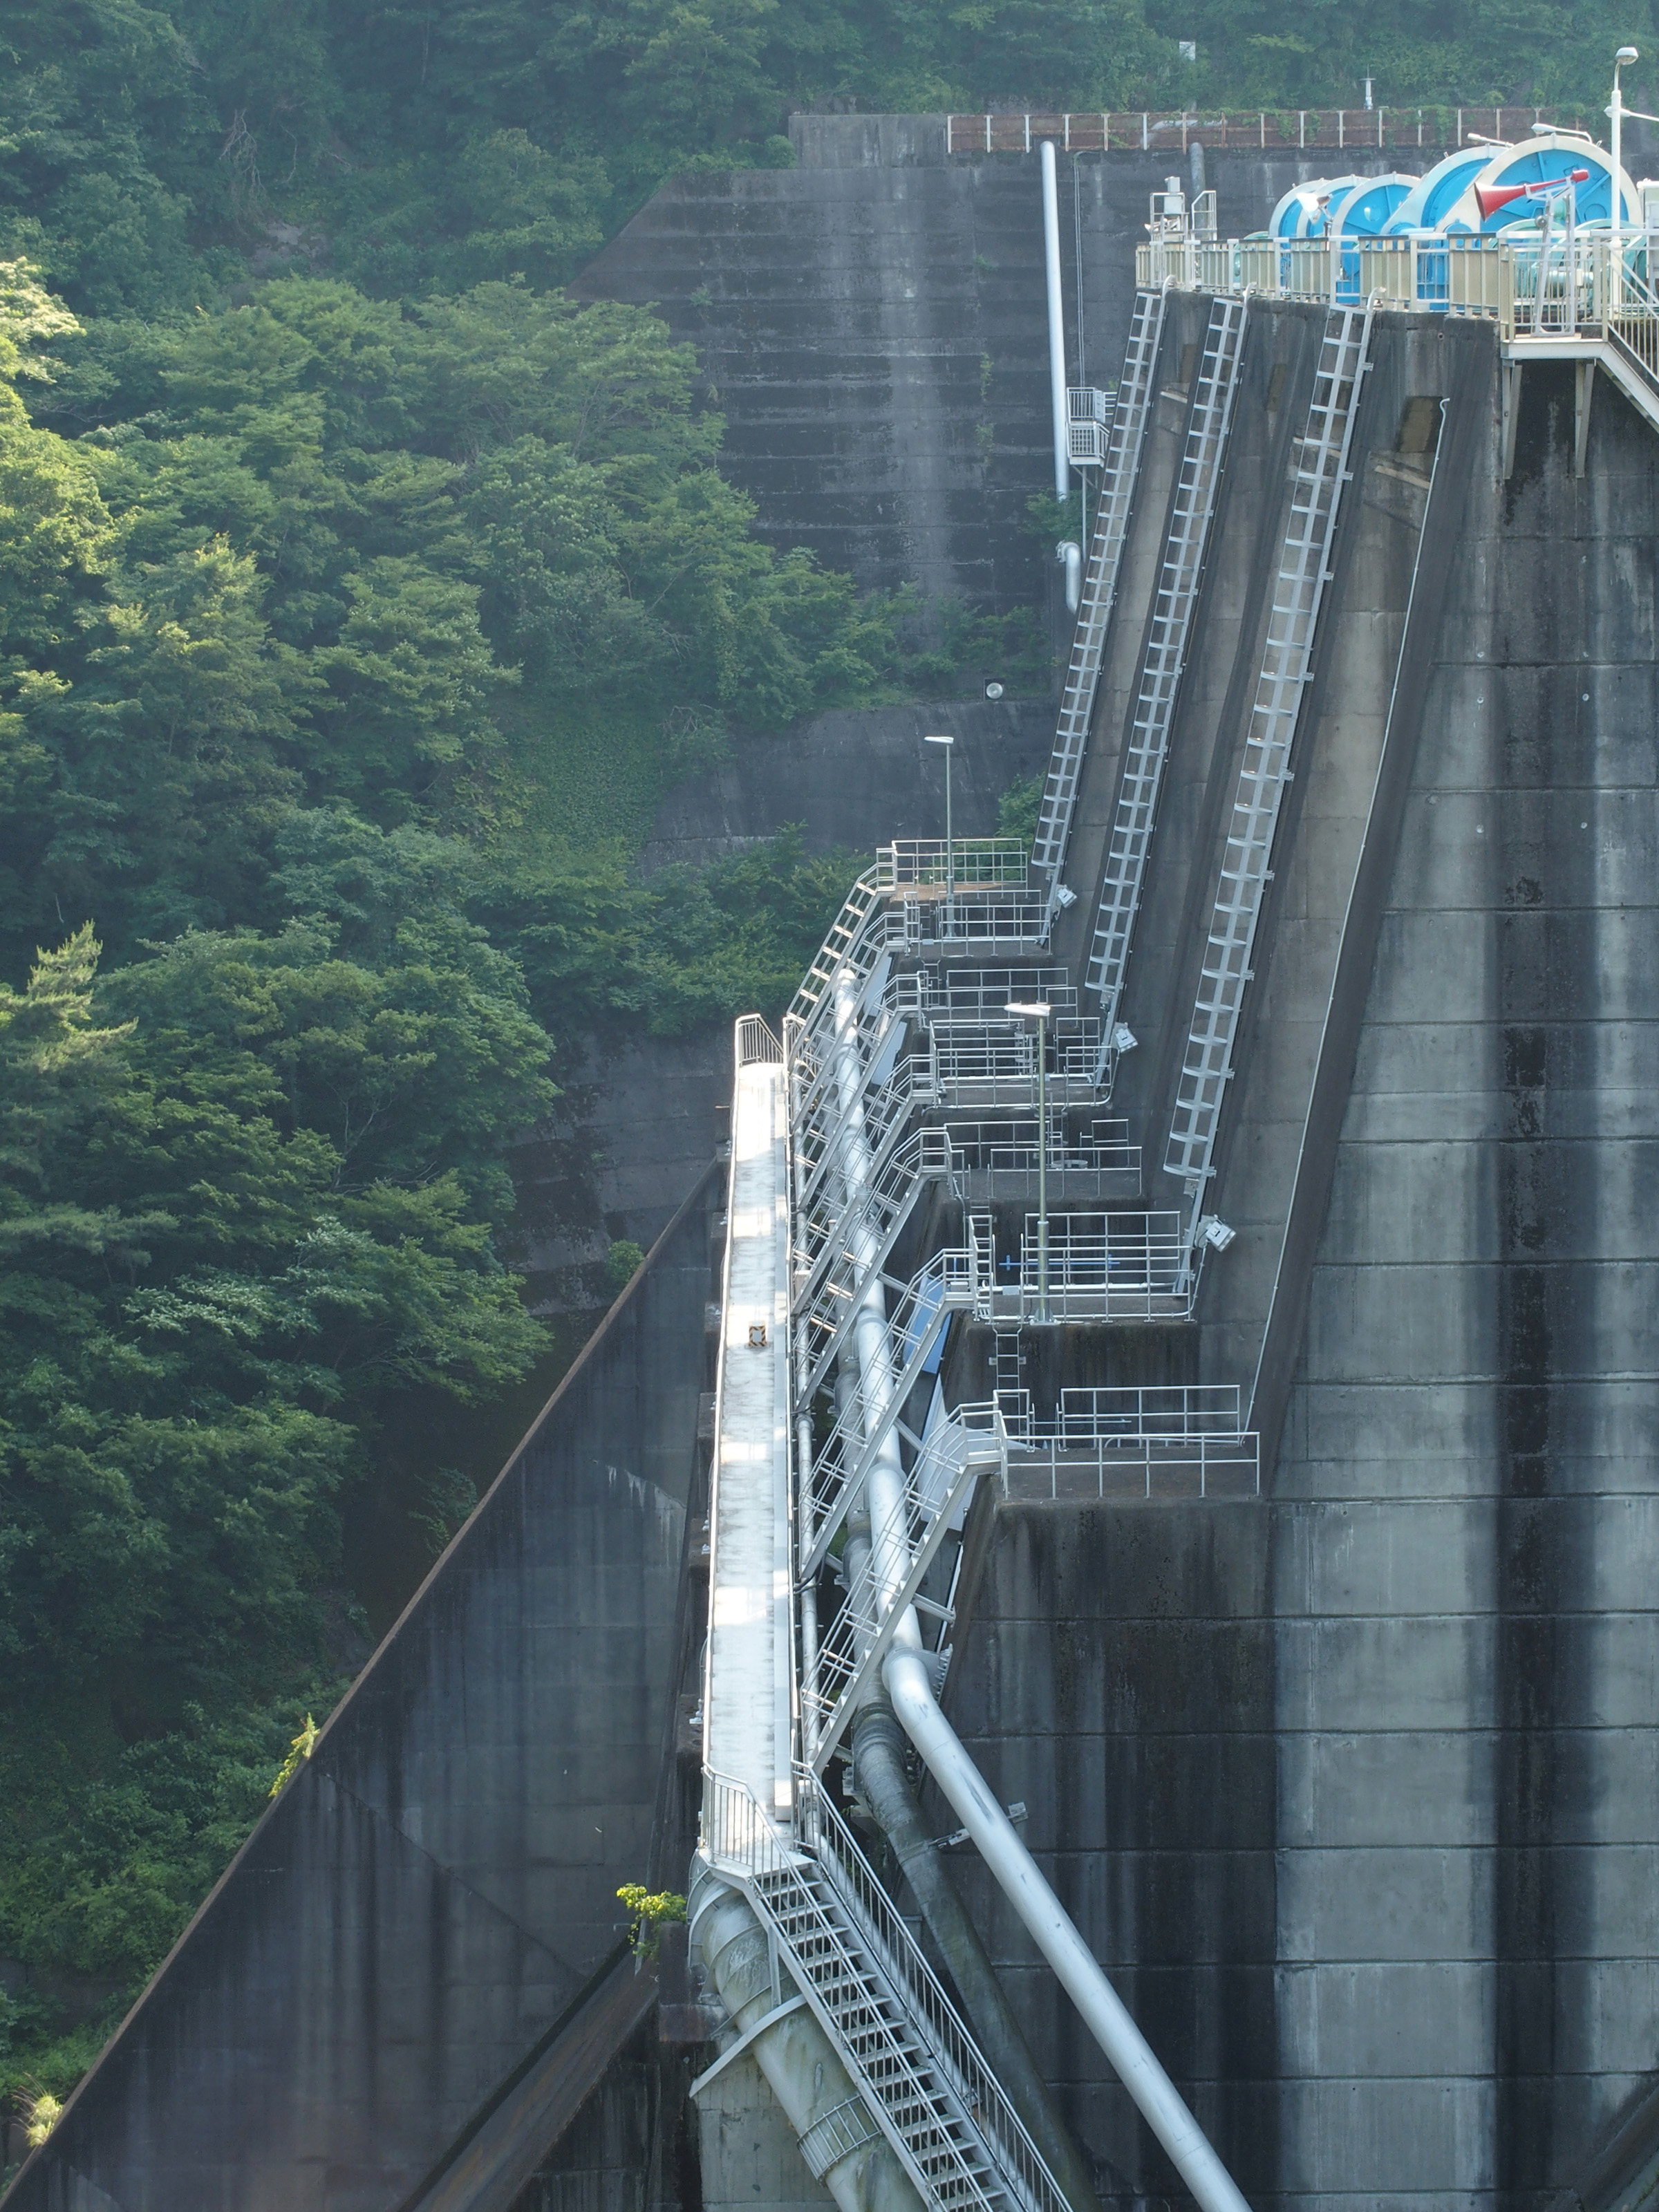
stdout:
[(392, 2212), (615, 1949), (617, 1885), (675, 1825), (721, 1188), (710, 1170), (9, 2212)]

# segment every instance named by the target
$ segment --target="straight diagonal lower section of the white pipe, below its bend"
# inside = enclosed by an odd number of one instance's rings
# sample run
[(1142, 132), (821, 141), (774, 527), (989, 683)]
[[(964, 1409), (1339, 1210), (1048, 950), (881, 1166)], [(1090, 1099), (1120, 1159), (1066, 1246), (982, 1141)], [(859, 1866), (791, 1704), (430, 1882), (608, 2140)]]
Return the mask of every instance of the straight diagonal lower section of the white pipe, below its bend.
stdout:
[[(905, 1628), (914, 1635), (914, 1615)], [(1201, 2212), (1250, 2212), (1232, 2174), (1188, 2112), (1175, 2081), (1152, 2057), (1152, 2048), (1130, 2020), (1124, 2000), (1099, 1971), (1095, 1953), (1044, 1882), (1031, 1851), (1020, 1843), (1013, 1823), (991, 1796), (984, 1776), (940, 1712), (927, 1679), (927, 1661), (902, 1628), (887, 1652), (883, 1681), (905, 1734), (922, 1754), (927, 1772), (956, 1807), (958, 1820), (980, 1847), (998, 1889), (1060, 1975), (1066, 1995), (1084, 2017), (1084, 2026), (1110, 2059), (1117, 2079), (1139, 2106), (1152, 2135), (1168, 2150)]]

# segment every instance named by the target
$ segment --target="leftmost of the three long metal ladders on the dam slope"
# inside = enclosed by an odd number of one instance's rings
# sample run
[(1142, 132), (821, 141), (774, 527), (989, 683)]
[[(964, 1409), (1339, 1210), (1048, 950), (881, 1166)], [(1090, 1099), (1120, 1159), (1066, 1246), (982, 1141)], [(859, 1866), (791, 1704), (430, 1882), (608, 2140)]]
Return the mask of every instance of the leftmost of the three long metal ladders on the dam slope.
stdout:
[(1077, 805), (1077, 783), (1084, 770), (1084, 752), (1088, 750), (1088, 723), (1095, 712), (1095, 686), (1099, 684), (1106, 630), (1117, 602), (1117, 568), (1124, 560), (1128, 515), (1141, 473), (1141, 445), (1146, 440), (1146, 418), (1152, 409), (1152, 376), (1157, 372), (1159, 338), (1164, 336), (1166, 299), (1166, 285), (1157, 292), (1135, 294), (1124, 374), (1117, 380), (1117, 405), (1113, 407), (1113, 427), (1106, 440), (1106, 462), (1099, 471), (1099, 507), (1095, 509), (1088, 568), (1084, 571), (1082, 599), (1077, 602), (1071, 668), (1066, 670), (1066, 690), (1060, 699), (1055, 750), (1048, 761), (1048, 783), (1044, 785), (1037, 836), (1031, 847), (1033, 869), (1048, 878), (1048, 920), (1053, 920), (1057, 902), (1060, 869), (1066, 865), (1071, 814)]

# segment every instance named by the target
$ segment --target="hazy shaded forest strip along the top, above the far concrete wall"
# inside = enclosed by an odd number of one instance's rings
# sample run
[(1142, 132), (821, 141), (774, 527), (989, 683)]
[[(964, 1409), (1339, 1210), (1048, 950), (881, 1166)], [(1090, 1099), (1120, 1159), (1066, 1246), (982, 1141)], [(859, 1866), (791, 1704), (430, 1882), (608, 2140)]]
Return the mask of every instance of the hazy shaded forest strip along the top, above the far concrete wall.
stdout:
[[(792, 106), (1542, 102), (1599, 113), (1646, 0), (7, 0), (0, 254), (100, 316), (281, 252), (376, 296), (568, 276)], [(1179, 42), (1194, 40), (1197, 64)], [(1632, 84), (1639, 82), (1632, 77)], [(1652, 100), (1637, 102), (1652, 106)]]

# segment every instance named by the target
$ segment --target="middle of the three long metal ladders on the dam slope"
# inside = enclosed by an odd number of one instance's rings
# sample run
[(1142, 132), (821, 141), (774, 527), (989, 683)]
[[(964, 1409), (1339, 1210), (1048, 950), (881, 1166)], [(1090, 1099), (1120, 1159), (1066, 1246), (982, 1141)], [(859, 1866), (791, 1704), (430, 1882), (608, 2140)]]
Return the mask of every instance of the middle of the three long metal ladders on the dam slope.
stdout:
[(1102, 1000), (1102, 1073), (1110, 1060), (1117, 1002), (1124, 991), (1135, 911), (1141, 902), (1146, 854), (1170, 748), (1170, 723), (1186, 668), (1192, 608), (1199, 597), (1203, 549), (1214, 515), (1221, 462), (1228, 449), (1232, 400), (1239, 389), (1239, 356), (1245, 332), (1245, 301), (1217, 299), (1203, 336), (1203, 358), (1192, 389), (1181, 473), (1170, 509), (1170, 535), (1152, 597), (1152, 622), (1141, 653), (1141, 675), (1130, 712), (1124, 770), (1117, 785), (1106, 872), (1099, 887), (1095, 942), (1084, 978)]

